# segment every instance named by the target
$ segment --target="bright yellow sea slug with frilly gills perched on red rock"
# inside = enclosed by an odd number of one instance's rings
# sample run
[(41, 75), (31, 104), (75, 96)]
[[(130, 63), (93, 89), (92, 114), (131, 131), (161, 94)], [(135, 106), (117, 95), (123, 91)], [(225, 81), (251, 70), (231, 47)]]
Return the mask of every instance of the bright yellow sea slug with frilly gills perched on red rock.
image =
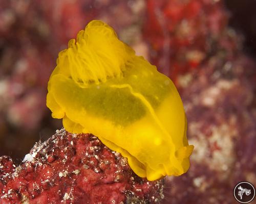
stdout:
[(181, 175), (194, 146), (173, 82), (93, 20), (62, 50), (48, 83), (47, 106), (71, 133), (92, 133), (153, 181)]

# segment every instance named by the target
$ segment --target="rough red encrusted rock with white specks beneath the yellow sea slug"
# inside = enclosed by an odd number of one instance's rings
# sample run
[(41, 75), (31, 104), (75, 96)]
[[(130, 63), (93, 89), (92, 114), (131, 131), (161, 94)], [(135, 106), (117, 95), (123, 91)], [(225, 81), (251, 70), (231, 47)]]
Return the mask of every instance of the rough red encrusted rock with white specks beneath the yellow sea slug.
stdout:
[(91, 134), (64, 129), (37, 143), (15, 167), (0, 157), (0, 203), (160, 203), (163, 181), (137, 176)]

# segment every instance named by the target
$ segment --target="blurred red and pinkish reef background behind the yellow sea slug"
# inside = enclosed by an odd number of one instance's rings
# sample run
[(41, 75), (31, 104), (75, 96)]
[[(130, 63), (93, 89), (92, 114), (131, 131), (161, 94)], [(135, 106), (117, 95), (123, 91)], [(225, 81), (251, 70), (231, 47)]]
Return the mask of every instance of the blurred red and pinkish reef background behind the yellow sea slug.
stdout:
[(92, 19), (109, 23), (176, 84), (195, 145), (191, 168), (167, 177), (165, 203), (233, 203), (256, 184), (256, 2), (0, 0), (0, 156), (20, 163), (60, 129), (46, 107), (58, 52)]

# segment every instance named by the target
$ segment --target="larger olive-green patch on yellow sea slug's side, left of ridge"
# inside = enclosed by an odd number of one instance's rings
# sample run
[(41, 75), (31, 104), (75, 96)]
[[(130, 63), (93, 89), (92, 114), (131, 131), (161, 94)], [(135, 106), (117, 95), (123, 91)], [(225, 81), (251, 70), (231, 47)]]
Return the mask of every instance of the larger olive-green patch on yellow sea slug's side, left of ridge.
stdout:
[(129, 88), (110, 88), (93, 85), (79, 88), (81, 107), (89, 114), (111, 120), (116, 124), (128, 125), (142, 118), (146, 109)]

